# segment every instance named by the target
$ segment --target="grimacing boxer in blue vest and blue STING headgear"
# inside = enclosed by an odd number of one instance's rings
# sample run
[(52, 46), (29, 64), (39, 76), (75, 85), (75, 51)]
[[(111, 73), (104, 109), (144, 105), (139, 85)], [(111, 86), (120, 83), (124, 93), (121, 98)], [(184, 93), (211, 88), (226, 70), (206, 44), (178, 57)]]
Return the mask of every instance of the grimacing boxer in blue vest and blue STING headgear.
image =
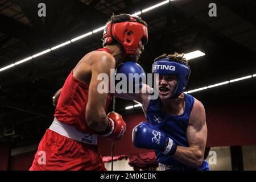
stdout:
[(117, 94), (141, 102), (148, 121), (134, 127), (134, 146), (155, 150), (161, 170), (208, 171), (205, 109), (199, 100), (184, 93), (190, 75), (187, 60), (179, 53), (159, 56), (152, 73), (158, 73), (158, 99), (149, 100), (147, 93)]

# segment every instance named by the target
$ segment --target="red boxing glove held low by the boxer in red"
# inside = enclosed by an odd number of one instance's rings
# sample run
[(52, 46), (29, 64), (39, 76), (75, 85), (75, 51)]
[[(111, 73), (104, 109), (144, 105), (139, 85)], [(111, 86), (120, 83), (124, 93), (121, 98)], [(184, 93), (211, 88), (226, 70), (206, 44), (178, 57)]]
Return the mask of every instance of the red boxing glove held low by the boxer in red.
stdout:
[(110, 112), (107, 118), (109, 119), (109, 131), (102, 136), (106, 137), (110, 142), (118, 142), (126, 131), (126, 123), (123, 121), (122, 116), (115, 112)]

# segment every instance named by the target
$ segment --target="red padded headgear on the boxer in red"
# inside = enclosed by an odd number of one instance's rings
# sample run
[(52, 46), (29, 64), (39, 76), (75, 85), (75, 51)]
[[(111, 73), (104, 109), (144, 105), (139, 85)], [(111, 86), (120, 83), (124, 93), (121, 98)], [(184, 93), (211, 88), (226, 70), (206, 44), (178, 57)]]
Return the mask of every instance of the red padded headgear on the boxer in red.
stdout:
[(147, 27), (131, 16), (126, 22), (112, 23), (110, 21), (104, 29), (102, 39), (103, 46), (112, 43), (113, 39), (116, 40), (122, 45), (126, 55), (133, 57), (139, 41), (142, 40), (143, 44), (147, 43)]

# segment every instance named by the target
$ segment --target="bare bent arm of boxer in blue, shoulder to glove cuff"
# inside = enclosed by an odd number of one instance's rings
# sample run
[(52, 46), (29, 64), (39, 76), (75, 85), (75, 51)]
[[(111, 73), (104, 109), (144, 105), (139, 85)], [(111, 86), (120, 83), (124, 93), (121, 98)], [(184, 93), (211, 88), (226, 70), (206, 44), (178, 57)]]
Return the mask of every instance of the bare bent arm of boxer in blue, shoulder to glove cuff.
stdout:
[(207, 142), (207, 124), (205, 120), (204, 106), (195, 99), (187, 128), (189, 147), (177, 146), (174, 154), (174, 158), (179, 162), (193, 168), (199, 168), (203, 162)]

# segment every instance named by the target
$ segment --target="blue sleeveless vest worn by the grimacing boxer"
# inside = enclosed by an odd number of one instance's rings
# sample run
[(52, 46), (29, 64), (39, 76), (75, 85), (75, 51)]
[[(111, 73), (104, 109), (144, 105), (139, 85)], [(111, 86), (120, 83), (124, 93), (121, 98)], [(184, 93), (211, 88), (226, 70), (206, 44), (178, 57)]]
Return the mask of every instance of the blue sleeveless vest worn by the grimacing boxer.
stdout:
[[(166, 114), (160, 107), (160, 99), (150, 100), (147, 107), (147, 121), (151, 125), (162, 130), (169, 138), (173, 139), (178, 146), (188, 147), (187, 140), (187, 127), (189, 121), (189, 115), (192, 111), (195, 98), (189, 94), (185, 95), (185, 110), (181, 115)], [(171, 100), (170, 100), (171, 102)], [(160, 151), (155, 151), (157, 160), (159, 163), (167, 166), (168, 170), (203, 170), (209, 171), (209, 165), (206, 160), (203, 160), (203, 164), (200, 168), (195, 169), (185, 164), (180, 163), (172, 156), (164, 155)]]

